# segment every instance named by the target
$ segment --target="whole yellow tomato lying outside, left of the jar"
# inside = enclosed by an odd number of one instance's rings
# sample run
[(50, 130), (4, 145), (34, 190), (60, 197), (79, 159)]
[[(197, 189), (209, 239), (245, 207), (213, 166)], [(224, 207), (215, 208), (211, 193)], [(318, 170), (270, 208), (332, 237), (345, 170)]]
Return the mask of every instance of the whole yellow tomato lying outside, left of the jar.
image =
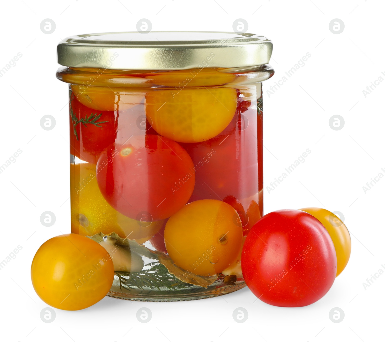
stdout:
[(114, 264), (99, 243), (77, 234), (40, 246), (31, 266), (32, 285), (48, 305), (81, 310), (99, 302), (114, 280)]

